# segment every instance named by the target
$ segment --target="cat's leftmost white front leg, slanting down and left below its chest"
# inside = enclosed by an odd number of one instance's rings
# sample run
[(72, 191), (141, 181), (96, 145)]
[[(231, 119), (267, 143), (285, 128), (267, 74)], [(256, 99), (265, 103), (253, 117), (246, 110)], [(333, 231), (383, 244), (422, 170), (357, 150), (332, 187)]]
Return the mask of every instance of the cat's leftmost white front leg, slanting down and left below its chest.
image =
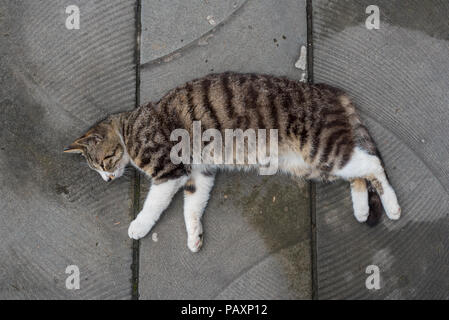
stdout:
[(145, 237), (151, 228), (153, 228), (156, 221), (159, 220), (162, 212), (168, 207), (173, 196), (187, 180), (188, 177), (183, 176), (162, 183), (153, 181), (142, 211), (129, 225), (129, 237), (135, 240)]

